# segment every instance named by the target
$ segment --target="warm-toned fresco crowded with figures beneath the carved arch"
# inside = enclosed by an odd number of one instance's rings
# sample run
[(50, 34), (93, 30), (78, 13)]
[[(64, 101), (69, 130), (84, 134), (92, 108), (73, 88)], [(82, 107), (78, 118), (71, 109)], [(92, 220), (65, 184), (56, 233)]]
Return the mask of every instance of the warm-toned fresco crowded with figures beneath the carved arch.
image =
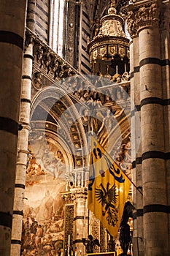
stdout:
[[(60, 192), (66, 186), (64, 158), (54, 144), (48, 146), (47, 149), (34, 143), (34, 153), (30, 147), (21, 255), (62, 255), (63, 251), (64, 208)], [(39, 156), (35, 148), (42, 151), (42, 155)]]

